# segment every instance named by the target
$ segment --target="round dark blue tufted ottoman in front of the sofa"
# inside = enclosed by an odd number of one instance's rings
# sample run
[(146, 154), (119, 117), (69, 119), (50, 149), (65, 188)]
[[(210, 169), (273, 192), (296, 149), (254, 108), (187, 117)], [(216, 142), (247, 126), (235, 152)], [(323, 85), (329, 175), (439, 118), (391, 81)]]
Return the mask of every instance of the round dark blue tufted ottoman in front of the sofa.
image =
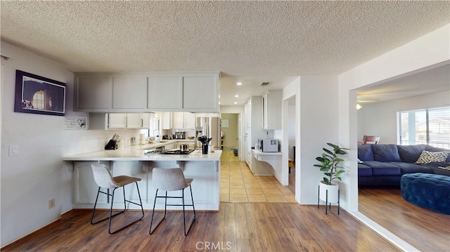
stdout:
[(400, 179), (401, 197), (416, 206), (450, 214), (450, 176), (406, 173)]

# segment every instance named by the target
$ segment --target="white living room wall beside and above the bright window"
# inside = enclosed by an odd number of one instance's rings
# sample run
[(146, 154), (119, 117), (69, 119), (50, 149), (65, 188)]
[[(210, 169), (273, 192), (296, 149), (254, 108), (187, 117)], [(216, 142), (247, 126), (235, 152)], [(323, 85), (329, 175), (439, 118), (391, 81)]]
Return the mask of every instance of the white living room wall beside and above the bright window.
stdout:
[(358, 110), (358, 121), (364, 121), (358, 128), (358, 140), (363, 135), (380, 135), (380, 144), (397, 144), (397, 112), (449, 105), (450, 91), (366, 103)]

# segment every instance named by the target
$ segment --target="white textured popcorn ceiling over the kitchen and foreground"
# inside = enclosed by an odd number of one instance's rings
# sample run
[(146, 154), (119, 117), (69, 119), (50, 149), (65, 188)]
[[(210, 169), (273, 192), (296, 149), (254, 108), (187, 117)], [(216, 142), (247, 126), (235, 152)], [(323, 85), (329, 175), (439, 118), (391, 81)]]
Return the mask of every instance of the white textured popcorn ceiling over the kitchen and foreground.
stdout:
[(72, 72), (220, 71), (221, 105), (242, 105), (352, 69), (449, 13), (449, 1), (1, 1), (1, 40)]

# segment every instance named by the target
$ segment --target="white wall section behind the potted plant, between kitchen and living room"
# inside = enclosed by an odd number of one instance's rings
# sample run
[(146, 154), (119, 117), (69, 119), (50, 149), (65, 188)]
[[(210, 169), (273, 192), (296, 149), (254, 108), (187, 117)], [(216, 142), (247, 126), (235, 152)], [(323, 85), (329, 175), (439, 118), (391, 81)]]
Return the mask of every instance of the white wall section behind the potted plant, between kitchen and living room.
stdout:
[[(327, 142), (338, 144), (337, 92), (337, 76), (302, 76), (283, 89), (283, 100), (295, 95), (295, 197), (300, 204), (317, 204), (317, 188), (323, 173), (314, 167), (316, 157), (322, 154)], [(283, 122), (288, 123), (286, 117), (288, 110), (283, 109)], [(283, 124), (283, 130), (288, 132), (288, 126)], [(283, 139), (287, 147), (288, 134)], [(284, 161), (287, 164), (287, 159), (285, 152), (283, 164)]]

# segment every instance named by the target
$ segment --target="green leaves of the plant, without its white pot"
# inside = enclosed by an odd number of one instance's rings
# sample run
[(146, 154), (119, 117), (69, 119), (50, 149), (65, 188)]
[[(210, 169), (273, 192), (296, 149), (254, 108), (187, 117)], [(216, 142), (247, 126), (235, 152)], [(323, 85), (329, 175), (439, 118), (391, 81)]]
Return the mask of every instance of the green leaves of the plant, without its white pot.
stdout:
[(339, 163), (344, 161), (344, 159), (339, 158), (338, 155), (347, 154), (345, 150), (349, 149), (341, 148), (330, 142), (327, 142), (327, 145), (332, 147), (333, 150), (323, 148), (324, 153), (322, 153), (322, 156), (316, 157), (316, 160), (321, 164), (314, 164), (314, 166), (319, 167), (323, 174), (326, 175), (326, 177), (323, 177), (323, 182), (326, 185), (331, 185), (331, 181), (335, 179), (341, 180), (340, 175), (345, 172), (344, 167), (339, 166)]

